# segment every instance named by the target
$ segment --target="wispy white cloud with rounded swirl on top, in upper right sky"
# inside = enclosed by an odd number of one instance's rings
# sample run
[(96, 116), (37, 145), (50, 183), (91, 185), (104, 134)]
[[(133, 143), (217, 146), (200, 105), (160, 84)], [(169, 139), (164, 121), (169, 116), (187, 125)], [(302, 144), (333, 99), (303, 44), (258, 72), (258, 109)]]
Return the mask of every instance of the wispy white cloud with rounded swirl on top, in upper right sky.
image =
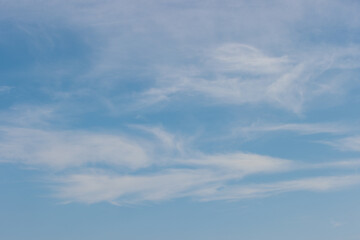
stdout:
[[(353, 49), (354, 51), (349, 51)], [(315, 97), (339, 93), (346, 80), (323, 82), (321, 74), (329, 69), (357, 68), (346, 59), (359, 58), (358, 47), (324, 49), (299, 57), (266, 55), (241, 43), (223, 44), (193, 71), (170, 69), (158, 86), (143, 93), (143, 104), (169, 101), (176, 96), (198, 94), (213, 104), (266, 103), (301, 113), (303, 105)], [(205, 77), (206, 76), (206, 77)], [(181, 98), (180, 98), (181, 99)]]

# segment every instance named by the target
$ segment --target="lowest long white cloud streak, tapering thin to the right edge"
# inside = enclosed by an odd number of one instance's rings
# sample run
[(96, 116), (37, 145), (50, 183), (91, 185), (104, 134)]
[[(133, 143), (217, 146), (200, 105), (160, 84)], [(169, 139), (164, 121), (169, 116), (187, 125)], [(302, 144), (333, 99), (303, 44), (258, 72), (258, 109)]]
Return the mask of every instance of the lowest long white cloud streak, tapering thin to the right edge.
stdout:
[(360, 184), (360, 176), (322, 176), (263, 184), (230, 184), (239, 179), (208, 170), (169, 170), (149, 175), (73, 174), (57, 178), (55, 196), (65, 202), (139, 204), (190, 197), (200, 201), (240, 200), (275, 194), (327, 192)]

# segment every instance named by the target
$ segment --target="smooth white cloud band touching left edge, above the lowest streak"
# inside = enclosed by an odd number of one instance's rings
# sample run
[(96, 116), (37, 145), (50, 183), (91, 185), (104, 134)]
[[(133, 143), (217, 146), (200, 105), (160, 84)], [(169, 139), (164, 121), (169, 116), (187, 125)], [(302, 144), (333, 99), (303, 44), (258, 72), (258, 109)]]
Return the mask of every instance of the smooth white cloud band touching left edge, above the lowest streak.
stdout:
[(89, 164), (136, 169), (149, 164), (146, 143), (119, 135), (13, 127), (0, 132), (2, 161), (59, 170)]

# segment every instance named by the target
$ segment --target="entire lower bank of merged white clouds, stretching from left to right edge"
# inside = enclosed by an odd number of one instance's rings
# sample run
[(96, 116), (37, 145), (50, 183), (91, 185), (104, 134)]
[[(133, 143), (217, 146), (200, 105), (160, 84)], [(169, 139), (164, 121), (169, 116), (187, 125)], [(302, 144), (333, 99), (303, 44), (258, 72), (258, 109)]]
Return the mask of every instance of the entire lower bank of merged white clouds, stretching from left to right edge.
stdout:
[[(357, 159), (306, 163), (240, 151), (207, 154), (184, 149), (187, 144), (163, 128), (132, 127), (151, 136), (3, 126), (0, 158), (2, 162), (51, 170), (55, 177), (48, 180), (54, 196), (65, 202), (122, 205), (183, 197), (235, 200), (291, 191), (329, 191), (360, 183), (357, 175), (318, 176), (316, 172), (351, 171), (360, 166)], [(281, 176), (293, 171), (312, 172), (317, 177), (243, 182), (252, 175)]]

